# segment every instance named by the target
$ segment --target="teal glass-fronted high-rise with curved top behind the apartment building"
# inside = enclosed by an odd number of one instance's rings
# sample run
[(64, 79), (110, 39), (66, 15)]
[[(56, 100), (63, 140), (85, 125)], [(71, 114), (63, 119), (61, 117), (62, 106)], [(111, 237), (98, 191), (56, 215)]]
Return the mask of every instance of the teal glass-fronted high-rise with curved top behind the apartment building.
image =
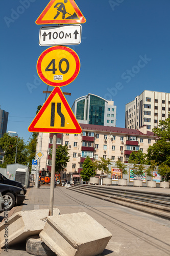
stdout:
[(112, 100), (89, 93), (75, 100), (72, 111), (79, 123), (116, 126), (116, 106)]

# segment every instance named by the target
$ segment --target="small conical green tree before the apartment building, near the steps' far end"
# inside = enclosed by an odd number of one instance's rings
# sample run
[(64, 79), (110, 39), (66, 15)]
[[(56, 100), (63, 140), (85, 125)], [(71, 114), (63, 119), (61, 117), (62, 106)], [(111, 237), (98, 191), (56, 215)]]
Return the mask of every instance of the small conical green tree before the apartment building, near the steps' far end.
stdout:
[(89, 156), (86, 157), (83, 163), (83, 169), (81, 170), (80, 176), (84, 181), (89, 181), (90, 177), (93, 177), (96, 175), (95, 168), (93, 161), (90, 159)]

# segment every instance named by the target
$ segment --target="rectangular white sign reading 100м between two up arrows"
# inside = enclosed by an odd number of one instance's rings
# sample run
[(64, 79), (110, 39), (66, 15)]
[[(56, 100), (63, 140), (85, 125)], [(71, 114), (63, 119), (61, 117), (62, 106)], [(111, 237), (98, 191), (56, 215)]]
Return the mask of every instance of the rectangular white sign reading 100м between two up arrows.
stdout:
[(57, 45), (79, 45), (82, 37), (82, 26), (51, 26), (40, 28), (39, 45), (57, 46)]

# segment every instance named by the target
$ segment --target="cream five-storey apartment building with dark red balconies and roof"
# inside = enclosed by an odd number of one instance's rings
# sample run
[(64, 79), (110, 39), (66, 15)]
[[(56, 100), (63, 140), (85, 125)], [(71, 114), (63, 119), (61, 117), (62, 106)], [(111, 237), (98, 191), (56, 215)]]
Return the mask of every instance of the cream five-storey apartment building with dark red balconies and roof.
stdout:
[[(57, 145), (68, 145), (70, 161), (61, 174), (62, 179), (73, 181), (80, 179), (82, 165), (87, 156), (91, 160), (109, 158), (113, 162), (120, 159), (128, 162), (130, 154), (141, 150), (147, 153), (147, 149), (155, 142), (154, 133), (147, 131), (144, 125), (139, 130), (109, 127), (93, 124), (80, 124), (81, 134), (57, 134)], [(44, 156), (40, 160), (40, 169), (51, 170), (50, 157), (53, 145), (53, 134), (42, 133), (42, 148)], [(37, 144), (39, 148), (39, 140)], [(101, 172), (98, 172), (100, 175)]]

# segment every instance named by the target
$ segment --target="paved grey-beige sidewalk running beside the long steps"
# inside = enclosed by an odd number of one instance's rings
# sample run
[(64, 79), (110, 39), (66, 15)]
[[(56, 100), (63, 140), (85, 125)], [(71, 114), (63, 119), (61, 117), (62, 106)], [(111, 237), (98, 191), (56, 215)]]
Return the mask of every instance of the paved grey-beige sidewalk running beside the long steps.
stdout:
[[(24, 204), (13, 209), (15, 211), (45, 209), (49, 208), (49, 200), (50, 186), (31, 187), (27, 191)], [(101, 256), (170, 255), (170, 222), (167, 220), (81, 195), (65, 187), (55, 188), (54, 208), (60, 209), (60, 214), (87, 212), (112, 233), (112, 238)], [(16, 245), (9, 248), (8, 253), (2, 249), (1, 255), (31, 255), (25, 251), (24, 246)]]

